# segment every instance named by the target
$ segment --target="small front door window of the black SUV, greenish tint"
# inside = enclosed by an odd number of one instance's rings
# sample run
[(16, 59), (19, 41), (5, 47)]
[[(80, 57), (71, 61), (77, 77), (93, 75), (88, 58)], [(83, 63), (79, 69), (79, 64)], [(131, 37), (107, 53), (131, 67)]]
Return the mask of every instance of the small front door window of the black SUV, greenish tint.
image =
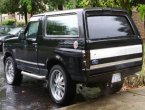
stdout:
[(39, 27), (39, 21), (33, 21), (28, 24), (28, 28), (26, 31), (26, 37), (27, 38), (36, 38), (37, 32)]

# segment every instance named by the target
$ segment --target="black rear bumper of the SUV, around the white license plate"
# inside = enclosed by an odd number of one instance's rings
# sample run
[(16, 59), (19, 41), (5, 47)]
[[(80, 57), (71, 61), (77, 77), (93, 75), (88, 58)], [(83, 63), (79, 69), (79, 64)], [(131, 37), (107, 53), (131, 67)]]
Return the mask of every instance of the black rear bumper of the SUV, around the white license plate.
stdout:
[(137, 72), (140, 72), (142, 69), (141, 65), (134, 66), (134, 67), (128, 67), (124, 69), (116, 69), (111, 71), (104, 71), (101, 73), (98, 73), (97, 70), (83, 70), (82, 73), (79, 76), (72, 75), (71, 78), (73, 81), (77, 83), (84, 83), (86, 85), (89, 84), (97, 84), (101, 82), (108, 82), (111, 81), (112, 75), (115, 73), (121, 73), (121, 77), (125, 78), (127, 76), (135, 75)]

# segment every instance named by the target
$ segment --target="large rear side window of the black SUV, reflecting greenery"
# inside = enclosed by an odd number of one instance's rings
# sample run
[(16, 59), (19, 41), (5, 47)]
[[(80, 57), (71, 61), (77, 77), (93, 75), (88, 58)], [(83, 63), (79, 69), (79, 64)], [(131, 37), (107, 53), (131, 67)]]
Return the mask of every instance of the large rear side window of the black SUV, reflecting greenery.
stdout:
[(78, 35), (77, 15), (48, 16), (47, 35)]

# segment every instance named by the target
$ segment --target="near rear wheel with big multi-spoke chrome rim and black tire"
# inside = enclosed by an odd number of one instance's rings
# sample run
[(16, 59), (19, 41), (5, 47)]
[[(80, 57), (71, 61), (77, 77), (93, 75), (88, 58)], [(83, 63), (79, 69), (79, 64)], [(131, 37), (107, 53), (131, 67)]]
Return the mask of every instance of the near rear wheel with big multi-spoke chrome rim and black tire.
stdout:
[(48, 88), (52, 100), (58, 105), (67, 105), (76, 94), (76, 84), (60, 65), (52, 67), (48, 77)]

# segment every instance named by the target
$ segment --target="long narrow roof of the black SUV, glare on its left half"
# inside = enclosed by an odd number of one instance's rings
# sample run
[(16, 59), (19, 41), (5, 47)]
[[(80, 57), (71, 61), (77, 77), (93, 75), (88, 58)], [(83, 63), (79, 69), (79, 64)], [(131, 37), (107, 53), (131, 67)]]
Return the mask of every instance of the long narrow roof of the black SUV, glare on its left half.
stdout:
[(123, 10), (123, 9), (120, 9), (120, 8), (100, 8), (100, 7), (95, 7), (95, 8), (81, 8), (81, 9), (62, 10), (62, 11), (50, 11), (50, 12), (45, 12), (45, 13), (42, 13), (42, 14), (34, 15), (33, 17), (42, 16), (42, 15), (78, 13), (78, 12), (83, 12), (83, 11), (117, 11), (117, 12), (128, 13), (126, 10)]

